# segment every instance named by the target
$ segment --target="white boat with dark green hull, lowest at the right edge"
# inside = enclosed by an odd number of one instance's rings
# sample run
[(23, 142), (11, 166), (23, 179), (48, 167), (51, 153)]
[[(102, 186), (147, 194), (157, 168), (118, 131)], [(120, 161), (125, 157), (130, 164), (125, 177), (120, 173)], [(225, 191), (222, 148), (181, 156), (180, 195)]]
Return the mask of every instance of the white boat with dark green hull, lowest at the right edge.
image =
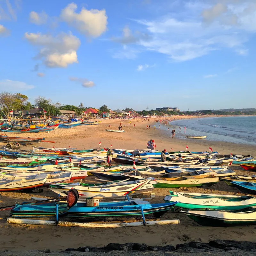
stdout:
[(185, 213), (189, 218), (204, 226), (233, 227), (256, 224), (255, 208), (246, 208), (232, 212), (208, 208), (179, 212)]

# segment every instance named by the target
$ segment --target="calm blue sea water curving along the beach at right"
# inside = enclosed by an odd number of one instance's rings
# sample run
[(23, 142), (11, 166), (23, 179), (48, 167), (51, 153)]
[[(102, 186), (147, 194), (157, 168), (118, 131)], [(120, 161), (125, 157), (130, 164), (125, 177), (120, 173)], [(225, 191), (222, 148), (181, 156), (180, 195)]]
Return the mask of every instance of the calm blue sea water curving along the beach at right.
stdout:
[[(184, 132), (185, 126), (186, 133)], [(161, 129), (167, 130), (167, 127), (169, 127), (170, 136), (174, 128), (175, 137), (180, 139), (185, 139), (186, 136), (207, 135), (204, 140), (256, 145), (256, 116), (195, 118), (161, 125)]]

